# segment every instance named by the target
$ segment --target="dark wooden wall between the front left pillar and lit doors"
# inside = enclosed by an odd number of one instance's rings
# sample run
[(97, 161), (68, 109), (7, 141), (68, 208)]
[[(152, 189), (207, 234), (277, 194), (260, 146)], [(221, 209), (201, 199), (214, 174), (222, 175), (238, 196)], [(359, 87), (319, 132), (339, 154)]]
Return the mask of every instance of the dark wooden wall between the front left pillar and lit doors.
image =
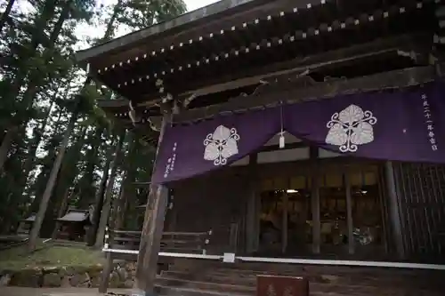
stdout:
[[(174, 186), (171, 210), (174, 225), (169, 228), (174, 231), (212, 229), (207, 251), (229, 252), (231, 224), (238, 225), (239, 237), (243, 237), (248, 185), (247, 173), (239, 167), (183, 180)], [(242, 241), (239, 244), (243, 244)]]

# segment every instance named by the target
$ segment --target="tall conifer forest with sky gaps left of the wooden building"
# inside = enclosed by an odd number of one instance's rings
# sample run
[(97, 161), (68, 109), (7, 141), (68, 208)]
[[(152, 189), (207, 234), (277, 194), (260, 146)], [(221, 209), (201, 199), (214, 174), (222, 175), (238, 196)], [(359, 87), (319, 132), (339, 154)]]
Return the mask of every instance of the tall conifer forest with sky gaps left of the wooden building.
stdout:
[(36, 214), (29, 250), (54, 235), (69, 207), (106, 225), (138, 228), (155, 148), (97, 107), (117, 95), (86, 76), (74, 53), (214, 0), (0, 1), (0, 234)]

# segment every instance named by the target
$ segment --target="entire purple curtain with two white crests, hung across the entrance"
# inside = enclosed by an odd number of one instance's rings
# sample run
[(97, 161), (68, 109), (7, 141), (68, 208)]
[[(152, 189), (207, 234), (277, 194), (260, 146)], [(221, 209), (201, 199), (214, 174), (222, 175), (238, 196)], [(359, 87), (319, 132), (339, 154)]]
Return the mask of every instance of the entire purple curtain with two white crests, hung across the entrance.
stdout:
[(444, 84), (337, 96), (166, 129), (152, 182), (231, 164), (281, 130), (351, 156), (445, 163)]

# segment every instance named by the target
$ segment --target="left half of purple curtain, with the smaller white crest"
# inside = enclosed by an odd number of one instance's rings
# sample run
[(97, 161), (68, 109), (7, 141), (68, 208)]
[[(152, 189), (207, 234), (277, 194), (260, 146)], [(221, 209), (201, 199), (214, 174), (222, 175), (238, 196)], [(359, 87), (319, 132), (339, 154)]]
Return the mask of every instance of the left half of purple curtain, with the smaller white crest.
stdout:
[(190, 178), (247, 156), (279, 132), (279, 118), (279, 109), (269, 108), (167, 128), (152, 182)]

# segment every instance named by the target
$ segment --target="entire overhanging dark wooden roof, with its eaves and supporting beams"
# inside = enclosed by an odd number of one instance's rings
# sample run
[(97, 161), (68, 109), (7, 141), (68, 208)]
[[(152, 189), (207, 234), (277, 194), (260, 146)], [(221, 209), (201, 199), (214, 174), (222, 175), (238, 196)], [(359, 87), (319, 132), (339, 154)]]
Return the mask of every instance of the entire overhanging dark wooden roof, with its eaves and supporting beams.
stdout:
[(303, 74), (311, 82), (306, 87), (328, 76), (354, 78), (425, 65), (417, 58), (431, 51), (436, 1), (224, 0), (78, 52), (77, 59), (123, 97), (100, 101), (101, 108), (133, 126), (132, 100), (140, 118), (136, 130), (155, 143), (158, 133), (148, 122), (161, 114), (158, 79), (176, 99), (194, 98), (188, 109), (196, 119), (204, 108), (265, 89), (263, 82), (275, 85), (268, 85), (269, 91), (282, 87), (275, 83), (283, 76), (287, 81)]

